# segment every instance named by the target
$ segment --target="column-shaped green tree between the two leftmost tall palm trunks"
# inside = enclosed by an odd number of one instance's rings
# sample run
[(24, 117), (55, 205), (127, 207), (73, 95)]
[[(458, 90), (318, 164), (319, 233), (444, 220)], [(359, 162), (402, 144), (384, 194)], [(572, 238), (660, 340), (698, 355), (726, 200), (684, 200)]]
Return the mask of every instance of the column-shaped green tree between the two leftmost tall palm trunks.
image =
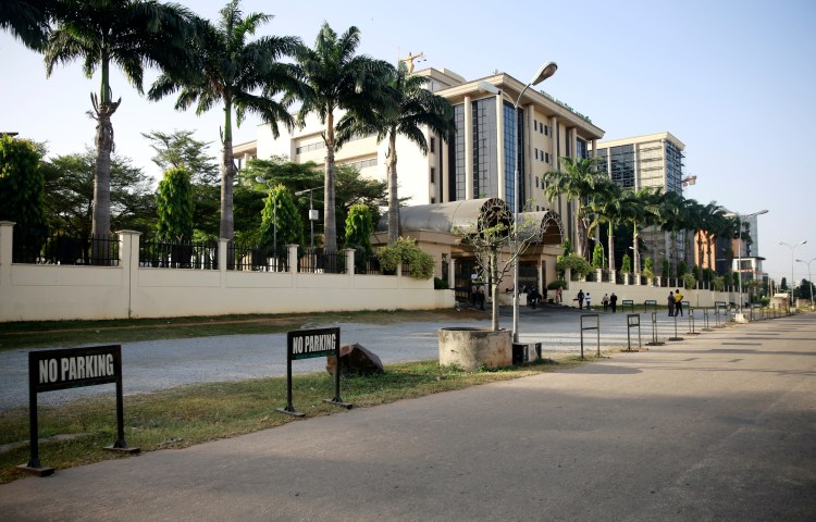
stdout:
[(186, 243), (193, 239), (193, 186), (189, 173), (180, 166), (164, 171), (156, 197), (160, 240)]

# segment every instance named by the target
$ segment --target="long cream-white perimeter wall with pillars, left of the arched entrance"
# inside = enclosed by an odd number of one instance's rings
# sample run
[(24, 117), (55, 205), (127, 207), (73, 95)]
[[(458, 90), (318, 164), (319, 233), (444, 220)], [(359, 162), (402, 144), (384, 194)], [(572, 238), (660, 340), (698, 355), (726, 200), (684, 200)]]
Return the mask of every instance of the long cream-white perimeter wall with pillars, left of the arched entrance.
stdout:
[(12, 264), (11, 232), (11, 223), (0, 222), (0, 321), (454, 307), (453, 290), (434, 290), (433, 279), (418, 281), (399, 273), (227, 271), (223, 269), (225, 241), (220, 247), (221, 270), (143, 268), (138, 263), (139, 234), (133, 232), (120, 233), (119, 266)]

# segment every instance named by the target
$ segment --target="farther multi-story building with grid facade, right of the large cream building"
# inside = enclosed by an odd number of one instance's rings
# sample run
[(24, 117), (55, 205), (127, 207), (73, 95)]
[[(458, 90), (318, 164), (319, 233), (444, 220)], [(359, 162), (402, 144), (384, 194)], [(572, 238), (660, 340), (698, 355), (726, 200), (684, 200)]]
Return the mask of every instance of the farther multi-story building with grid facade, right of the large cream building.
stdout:
[[(633, 190), (657, 187), (664, 192), (679, 194), (683, 188), (684, 149), (685, 145), (670, 133), (601, 141), (593, 147), (598, 170), (608, 173), (619, 186)], [(679, 261), (690, 261), (688, 243), (683, 231), (670, 233), (654, 226), (640, 231), (641, 249), (652, 256), (658, 274), (664, 259), (669, 259), (672, 266)], [(616, 259), (623, 252), (618, 253)]]

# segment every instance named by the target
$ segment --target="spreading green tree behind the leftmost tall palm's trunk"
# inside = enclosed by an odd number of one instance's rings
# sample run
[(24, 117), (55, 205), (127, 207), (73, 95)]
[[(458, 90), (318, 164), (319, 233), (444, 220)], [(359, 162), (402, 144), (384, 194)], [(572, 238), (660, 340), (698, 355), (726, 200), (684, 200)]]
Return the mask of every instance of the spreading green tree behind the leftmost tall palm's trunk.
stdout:
[[(46, 217), (52, 229), (88, 238), (94, 208), (94, 162), (96, 153), (58, 156), (42, 164), (46, 181)], [(111, 223), (114, 231), (156, 231), (157, 210), (153, 181), (128, 158), (111, 157)]]

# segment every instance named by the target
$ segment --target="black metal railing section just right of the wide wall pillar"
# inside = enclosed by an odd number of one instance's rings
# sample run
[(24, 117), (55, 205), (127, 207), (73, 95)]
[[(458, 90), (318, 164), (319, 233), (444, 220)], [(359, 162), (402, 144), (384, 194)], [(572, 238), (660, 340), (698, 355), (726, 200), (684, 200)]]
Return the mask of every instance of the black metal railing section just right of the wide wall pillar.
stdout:
[(139, 266), (218, 270), (217, 241), (139, 241)]

